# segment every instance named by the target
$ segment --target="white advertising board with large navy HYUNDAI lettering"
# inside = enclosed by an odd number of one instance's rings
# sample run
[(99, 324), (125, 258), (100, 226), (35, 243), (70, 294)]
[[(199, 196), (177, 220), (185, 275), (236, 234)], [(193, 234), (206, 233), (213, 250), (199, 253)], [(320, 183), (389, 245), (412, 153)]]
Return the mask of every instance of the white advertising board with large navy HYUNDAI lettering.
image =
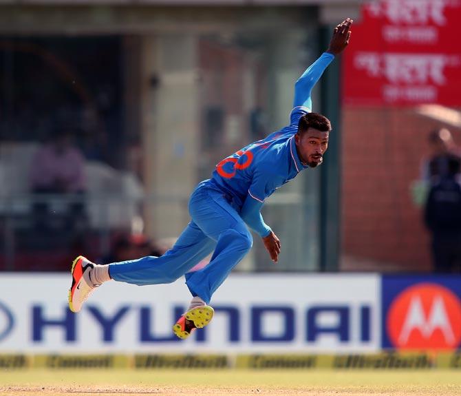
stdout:
[(78, 314), (67, 307), (70, 281), (64, 273), (1, 275), (0, 353), (380, 350), (379, 275), (230, 275), (213, 298), (213, 322), (188, 340), (171, 331), (191, 298), (183, 281), (158, 286), (108, 282)]

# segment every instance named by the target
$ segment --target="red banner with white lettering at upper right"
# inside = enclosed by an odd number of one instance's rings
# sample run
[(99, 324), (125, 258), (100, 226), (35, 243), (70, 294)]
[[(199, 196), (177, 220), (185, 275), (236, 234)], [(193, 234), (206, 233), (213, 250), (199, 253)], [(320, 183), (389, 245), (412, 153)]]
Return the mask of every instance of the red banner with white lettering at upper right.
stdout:
[(343, 55), (350, 105), (461, 105), (461, 0), (378, 0)]

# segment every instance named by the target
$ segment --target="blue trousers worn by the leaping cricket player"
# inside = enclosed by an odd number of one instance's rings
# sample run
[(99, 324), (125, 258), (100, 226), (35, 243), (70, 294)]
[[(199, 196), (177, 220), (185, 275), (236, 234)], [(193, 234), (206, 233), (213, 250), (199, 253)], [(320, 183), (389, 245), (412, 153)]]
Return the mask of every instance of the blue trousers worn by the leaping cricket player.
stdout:
[[(109, 264), (111, 278), (132, 284), (171, 283), (186, 274), (192, 295), (206, 304), (230, 271), (250, 251), (253, 238), (230, 198), (211, 180), (197, 185), (189, 199), (191, 222), (175, 245), (161, 257)], [(214, 249), (211, 261), (187, 273)]]

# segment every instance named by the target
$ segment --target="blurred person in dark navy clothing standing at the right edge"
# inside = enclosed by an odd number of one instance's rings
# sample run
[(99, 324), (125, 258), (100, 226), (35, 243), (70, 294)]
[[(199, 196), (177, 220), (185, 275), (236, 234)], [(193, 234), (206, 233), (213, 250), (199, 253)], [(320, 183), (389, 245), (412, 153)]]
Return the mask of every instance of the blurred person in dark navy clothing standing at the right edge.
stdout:
[(442, 165), (443, 169), (432, 168), (438, 173), (431, 176), (425, 206), (425, 223), (432, 233), (433, 269), (437, 273), (460, 271), (461, 264), (460, 160), (446, 156), (437, 166)]

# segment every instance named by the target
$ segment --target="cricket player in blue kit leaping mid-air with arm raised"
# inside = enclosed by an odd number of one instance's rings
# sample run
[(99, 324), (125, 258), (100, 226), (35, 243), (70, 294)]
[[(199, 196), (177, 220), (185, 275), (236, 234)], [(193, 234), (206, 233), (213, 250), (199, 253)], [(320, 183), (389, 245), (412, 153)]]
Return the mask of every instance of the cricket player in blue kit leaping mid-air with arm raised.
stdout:
[[(163, 256), (96, 265), (83, 256), (72, 264), (69, 308), (78, 312), (103, 282), (131, 284), (171, 283), (185, 275), (193, 298), (189, 309), (173, 326), (180, 338), (206, 326), (213, 318), (208, 305), (219, 285), (253, 245), (248, 227), (261, 236), (270, 258), (277, 262), (281, 244), (261, 216), (264, 201), (303, 169), (317, 167), (328, 148), (328, 118), (312, 113), (311, 91), (323, 71), (347, 46), (352, 19), (334, 28), (328, 50), (294, 85), (290, 124), (228, 156), (213, 176), (193, 191), (189, 200), (191, 222)], [(206, 267), (189, 272), (213, 252)]]

